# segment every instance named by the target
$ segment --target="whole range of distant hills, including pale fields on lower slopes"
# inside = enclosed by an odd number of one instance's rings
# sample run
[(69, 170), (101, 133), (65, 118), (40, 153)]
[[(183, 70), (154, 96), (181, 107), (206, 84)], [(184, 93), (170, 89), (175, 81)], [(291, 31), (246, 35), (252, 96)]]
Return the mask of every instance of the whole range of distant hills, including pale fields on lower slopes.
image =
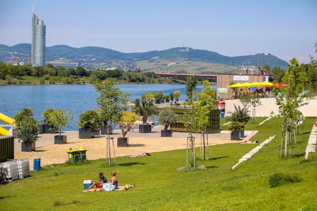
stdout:
[[(4, 57), (17, 56), (25, 61), (26, 56), (20, 54), (31, 54), (31, 44), (21, 43), (13, 46), (0, 44), (0, 61), (8, 62), (9, 59)], [(199, 71), (196, 65), (200, 64), (201, 70), (218, 71), (212, 67), (219, 66), (219, 70), (230, 71), (231, 66), (239, 65), (264, 65), (267, 63), (271, 68), (278, 66), (286, 69), (288, 63), (271, 54), (255, 54), (229, 57), (216, 52), (193, 49), (189, 47), (174, 47), (167, 50), (155, 50), (143, 53), (122, 53), (103, 47), (70, 47), (68, 45), (54, 45), (46, 47), (46, 61), (55, 61), (61, 59), (66, 62), (79, 62), (81, 66), (87, 69), (107, 68), (119, 65), (120, 68), (133, 69), (156, 69), (163, 71)], [(155, 66), (154, 63), (160, 63)], [(182, 68), (171, 69), (170, 63), (184, 62)], [(143, 66), (142, 64), (151, 63)], [(213, 65), (211, 65), (213, 64)], [(163, 67), (166, 67), (165, 69)], [(157, 71), (156, 71), (157, 72)], [(221, 71), (223, 72), (223, 71)]]

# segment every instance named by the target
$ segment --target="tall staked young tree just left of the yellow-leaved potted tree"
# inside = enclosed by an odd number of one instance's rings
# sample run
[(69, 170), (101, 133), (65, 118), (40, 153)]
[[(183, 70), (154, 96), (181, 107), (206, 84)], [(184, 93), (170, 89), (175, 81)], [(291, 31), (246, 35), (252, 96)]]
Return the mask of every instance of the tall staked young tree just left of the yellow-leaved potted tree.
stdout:
[(101, 119), (108, 131), (107, 159), (109, 166), (111, 166), (109, 131), (111, 130), (111, 127), (114, 128), (120, 122), (123, 112), (128, 110), (129, 94), (120, 91), (118, 87), (114, 87), (114, 82), (111, 82), (109, 80), (106, 80), (102, 83), (95, 83), (94, 86), (95, 89), (99, 92), (99, 96), (97, 97), (96, 102), (101, 112)]

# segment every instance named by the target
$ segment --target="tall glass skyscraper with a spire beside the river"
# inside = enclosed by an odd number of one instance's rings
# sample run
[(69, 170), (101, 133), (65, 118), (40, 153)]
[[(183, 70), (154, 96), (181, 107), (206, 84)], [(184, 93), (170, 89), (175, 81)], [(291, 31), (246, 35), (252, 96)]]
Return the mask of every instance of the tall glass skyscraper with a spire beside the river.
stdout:
[(45, 66), (45, 33), (46, 26), (32, 11), (32, 46), (31, 64), (33, 66)]

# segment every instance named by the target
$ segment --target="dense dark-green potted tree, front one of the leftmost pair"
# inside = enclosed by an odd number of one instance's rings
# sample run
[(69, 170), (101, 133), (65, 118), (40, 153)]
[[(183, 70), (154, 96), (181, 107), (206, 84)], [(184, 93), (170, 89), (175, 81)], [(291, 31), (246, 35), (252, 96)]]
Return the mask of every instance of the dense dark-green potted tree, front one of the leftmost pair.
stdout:
[(32, 109), (23, 108), (21, 112), (14, 116), (16, 133), (23, 140), (21, 144), (22, 152), (35, 150), (35, 142), (39, 134), (38, 121), (33, 118)]

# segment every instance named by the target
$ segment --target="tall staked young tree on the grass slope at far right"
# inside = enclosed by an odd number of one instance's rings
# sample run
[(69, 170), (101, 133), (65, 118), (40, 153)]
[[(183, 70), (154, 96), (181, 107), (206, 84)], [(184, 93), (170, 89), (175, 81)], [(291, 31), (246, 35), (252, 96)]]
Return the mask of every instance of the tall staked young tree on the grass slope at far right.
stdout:
[[(285, 144), (284, 155), (287, 156), (287, 145), (289, 154), (291, 154), (291, 140), (292, 140), (292, 123), (299, 119), (300, 112), (298, 108), (307, 104), (304, 99), (309, 97), (308, 94), (302, 94), (304, 90), (304, 83), (307, 81), (305, 72), (300, 70), (298, 61), (293, 58), (287, 67), (287, 72), (282, 79), (287, 86), (273, 88), (276, 94), (276, 104), (279, 106), (279, 115), (284, 117), (283, 127), (285, 128)], [(282, 134), (283, 133), (282, 129)], [(283, 135), (282, 135), (283, 136)], [(282, 157), (283, 137), (281, 140), (280, 157)]]

